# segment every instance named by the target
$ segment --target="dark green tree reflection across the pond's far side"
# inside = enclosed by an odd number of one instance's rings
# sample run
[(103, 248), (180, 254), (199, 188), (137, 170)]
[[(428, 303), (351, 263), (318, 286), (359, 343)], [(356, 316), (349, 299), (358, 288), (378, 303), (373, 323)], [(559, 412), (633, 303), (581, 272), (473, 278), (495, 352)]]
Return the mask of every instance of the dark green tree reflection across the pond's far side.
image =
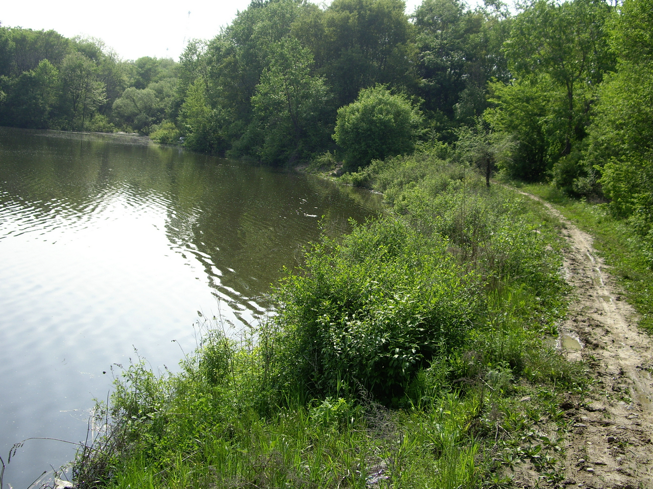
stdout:
[[(271, 306), (270, 283), (283, 266), (301, 263), (304, 246), (319, 238), (321, 228), (340, 235), (350, 216), (364, 220), (380, 200), (322, 179), (131, 136), (1, 130), (0, 141), (0, 155), (10, 155), (0, 178), (14, 182), (9, 193), (25, 205), (37, 203), (34, 214), (63, 217), (66, 226), (71, 215), (81, 223), (111, 203), (136, 215), (162, 215), (171, 250), (199, 262), (216, 295), (251, 314), (261, 312), (255, 304)], [(10, 178), (21, 171), (29, 177)]]

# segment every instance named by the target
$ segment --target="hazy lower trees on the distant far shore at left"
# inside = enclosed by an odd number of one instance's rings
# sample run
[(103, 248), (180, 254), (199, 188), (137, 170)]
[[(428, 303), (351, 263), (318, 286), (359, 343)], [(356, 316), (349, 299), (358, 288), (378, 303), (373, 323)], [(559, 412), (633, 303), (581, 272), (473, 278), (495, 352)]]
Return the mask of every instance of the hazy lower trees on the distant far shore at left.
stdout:
[(122, 61), (95, 38), (0, 27), (0, 125), (148, 134), (175, 117), (177, 70)]

